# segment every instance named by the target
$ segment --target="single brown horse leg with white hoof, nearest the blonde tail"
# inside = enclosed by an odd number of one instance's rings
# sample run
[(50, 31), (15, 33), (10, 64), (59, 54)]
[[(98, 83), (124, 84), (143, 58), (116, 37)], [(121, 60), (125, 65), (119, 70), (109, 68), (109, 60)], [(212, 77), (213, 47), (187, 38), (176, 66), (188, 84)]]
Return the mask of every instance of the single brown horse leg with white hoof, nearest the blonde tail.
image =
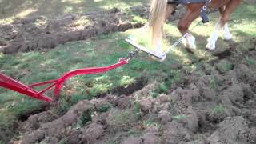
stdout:
[(195, 38), (188, 31), (188, 29), (191, 23), (194, 21), (194, 19), (197, 18), (198, 15), (200, 14), (201, 7), (202, 7), (201, 4), (190, 4), (187, 7), (186, 14), (178, 22), (178, 30), (182, 33), (182, 35), (185, 35), (186, 33), (188, 33), (184, 38), (183, 43), (187, 48), (190, 48), (190, 49), (195, 49), (196, 45), (195, 45)]

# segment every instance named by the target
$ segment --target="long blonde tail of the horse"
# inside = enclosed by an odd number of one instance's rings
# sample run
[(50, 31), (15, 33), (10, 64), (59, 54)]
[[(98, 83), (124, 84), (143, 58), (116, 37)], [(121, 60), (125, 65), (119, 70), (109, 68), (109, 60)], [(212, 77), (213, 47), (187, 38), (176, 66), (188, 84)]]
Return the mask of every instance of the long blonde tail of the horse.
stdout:
[(157, 46), (162, 38), (162, 26), (166, 21), (167, 0), (152, 0), (150, 6), (149, 30), (151, 46)]

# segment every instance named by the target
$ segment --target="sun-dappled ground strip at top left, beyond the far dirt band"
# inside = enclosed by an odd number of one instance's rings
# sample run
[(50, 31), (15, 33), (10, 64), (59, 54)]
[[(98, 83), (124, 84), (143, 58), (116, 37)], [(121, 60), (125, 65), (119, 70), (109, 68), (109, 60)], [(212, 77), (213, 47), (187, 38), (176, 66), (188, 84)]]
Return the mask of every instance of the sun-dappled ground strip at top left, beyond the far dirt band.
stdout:
[(125, 9), (148, 2), (148, 0), (0, 0), (0, 24), (10, 23), (14, 18), (38, 15), (56, 18), (67, 13), (82, 14), (113, 7)]

